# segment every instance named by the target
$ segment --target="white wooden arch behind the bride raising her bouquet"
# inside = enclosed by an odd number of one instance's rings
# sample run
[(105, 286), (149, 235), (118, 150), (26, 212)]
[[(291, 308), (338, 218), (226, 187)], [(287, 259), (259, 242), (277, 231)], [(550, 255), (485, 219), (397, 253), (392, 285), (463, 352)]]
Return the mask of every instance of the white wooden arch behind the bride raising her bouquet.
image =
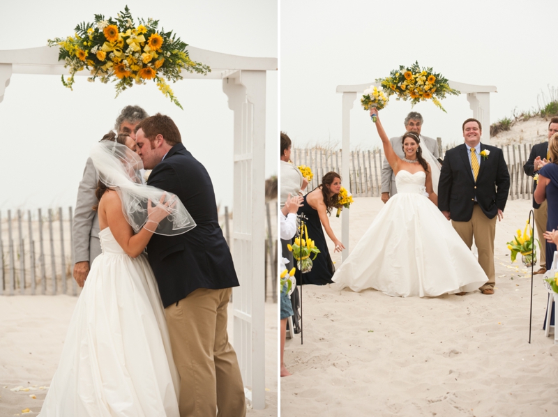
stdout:
[[(462, 82), (448, 81), (452, 89), (460, 91), (462, 94), (467, 94), (467, 101), (471, 107), (473, 114), (472, 117), (481, 122), (482, 126), (490, 126), (490, 93), (496, 93), (495, 86), (477, 86), (473, 84), (465, 84)], [(368, 84), (356, 85), (338, 85), (336, 92), (343, 95), (342, 107), (342, 178), (349, 178), (349, 155), (350, 155), (350, 142), (351, 135), (349, 131), (350, 126), (350, 112), (353, 108), (354, 101), (357, 98), (357, 93), (362, 93), (370, 86), (381, 87), (379, 82), (372, 82)], [(485, 129), (481, 135), (481, 142), (488, 143), (490, 141), (490, 129)], [(349, 256), (349, 211), (343, 211), (341, 220), (341, 241), (345, 244), (347, 250), (341, 253), (342, 261), (345, 261)]]

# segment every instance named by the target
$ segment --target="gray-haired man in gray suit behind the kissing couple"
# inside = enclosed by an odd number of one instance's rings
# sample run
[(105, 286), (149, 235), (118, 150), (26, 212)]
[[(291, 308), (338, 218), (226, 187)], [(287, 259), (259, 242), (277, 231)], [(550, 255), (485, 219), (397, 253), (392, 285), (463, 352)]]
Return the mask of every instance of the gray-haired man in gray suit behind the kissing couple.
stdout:
[[(149, 117), (140, 106), (126, 106), (116, 118), (114, 129), (129, 135), (135, 140), (135, 126)], [(95, 191), (98, 176), (91, 158), (87, 159), (80, 187), (77, 189), (77, 202), (73, 222), (73, 245), (75, 255), (74, 278), (83, 287), (93, 259), (100, 255), (99, 220), (93, 206), (98, 204)]]

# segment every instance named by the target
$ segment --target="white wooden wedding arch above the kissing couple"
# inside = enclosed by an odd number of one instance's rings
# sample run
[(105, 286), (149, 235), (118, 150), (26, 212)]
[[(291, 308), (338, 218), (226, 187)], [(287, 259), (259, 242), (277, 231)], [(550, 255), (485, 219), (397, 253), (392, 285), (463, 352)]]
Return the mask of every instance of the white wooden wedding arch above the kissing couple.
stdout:
[[(234, 112), (233, 258), (240, 287), (233, 290), (234, 347), (246, 396), (254, 409), (265, 407), (264, 181), (266, 71), (276, 58), (253, 58), (188, 46), (190, 59), (211, 67), (208, 75), (185, 79), (220, 79)], [(0, 103), (12, 74), (68, 75), (59, 49), (36, 47), (0, 51)], [(86, 71), (76, 74), (88, 75)], [(14, 93), (17, 93), (14, 91)]]

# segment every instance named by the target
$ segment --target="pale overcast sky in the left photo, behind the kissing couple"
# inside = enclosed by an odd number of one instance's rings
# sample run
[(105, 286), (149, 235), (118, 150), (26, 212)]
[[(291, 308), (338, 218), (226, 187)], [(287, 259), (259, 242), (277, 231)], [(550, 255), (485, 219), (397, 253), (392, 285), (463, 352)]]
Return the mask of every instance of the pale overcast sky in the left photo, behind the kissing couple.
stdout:
[[(39, 47), (73, 35), (96, 13), (116, 17), (128, 4), (133, 17), (205, 50), (242, 56), (278, 56), (276, 0), (1, 1), (0, 50)], [(75, 206), (89, 149), (114, 126), (126, 105), (167, 114), (183, 144), (208, 169), (217, 202), (232, 206), (233, 114), (220, 80), (170, 84), (184, 107), (154, 83), (133, 86), (114, 99), (114, 84), (76, 77), (73, 91), (59, 76), (12, 75), (0, 103), (0, 210)], [(266, 177), (277, 174), (278, 72), (267, 72)]]

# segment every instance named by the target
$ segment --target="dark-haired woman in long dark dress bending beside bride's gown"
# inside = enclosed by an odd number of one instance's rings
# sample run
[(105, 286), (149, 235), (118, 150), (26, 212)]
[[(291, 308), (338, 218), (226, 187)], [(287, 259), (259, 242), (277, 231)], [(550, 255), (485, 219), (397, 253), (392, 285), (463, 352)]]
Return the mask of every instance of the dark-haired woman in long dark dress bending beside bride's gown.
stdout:
[[(342, 251), (345, 249), (345, 246), (333, 234), (333, 230), (329, 226), (328, 217), (331, 214), (331, 209), (338, 202), (340, 190), (341, 177), (336, 172), (328, 172), (322, 178), (322, 184), (304, 196), (303, 206), (299, 208), (299, 215), (304, 214), (306, 217), (305, 222), (308, 236), (315, 242), (320, 253), (312, 261), (312, 271), (302, 274), (302, 282), (299, 282), (299, 274), (295, 274), (296, 285), (326, 285), (333, 282), (331, 277), (335, 272), (335, 268), (333, 268), (333, 262), (327, 249), (324, 229), (329, 238), (335, 243), (335, 250)], [(322, 229), (322, 225), (324, 229)]]

